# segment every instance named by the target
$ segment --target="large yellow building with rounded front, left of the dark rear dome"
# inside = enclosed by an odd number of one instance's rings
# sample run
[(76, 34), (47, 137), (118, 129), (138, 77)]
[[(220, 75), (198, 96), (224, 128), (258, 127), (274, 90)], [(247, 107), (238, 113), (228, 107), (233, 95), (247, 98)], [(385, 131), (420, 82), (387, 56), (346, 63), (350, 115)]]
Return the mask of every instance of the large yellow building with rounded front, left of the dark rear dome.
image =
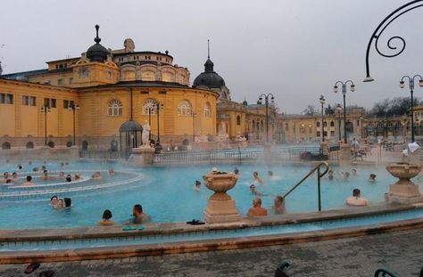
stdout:
[(2, 149), (71, 147), (75, 135), (83, 150), (118, 150), (121, 126), (142, 129), (145, 121), (164, 144), (192, 143), (196, 134), (212, 140), (218, 92), (190, 87), (188, 69), (167, 51), (136, 52), (130, 38), (106, 49), (96, 29), (95, 45), (78, 58), (0, 76)]

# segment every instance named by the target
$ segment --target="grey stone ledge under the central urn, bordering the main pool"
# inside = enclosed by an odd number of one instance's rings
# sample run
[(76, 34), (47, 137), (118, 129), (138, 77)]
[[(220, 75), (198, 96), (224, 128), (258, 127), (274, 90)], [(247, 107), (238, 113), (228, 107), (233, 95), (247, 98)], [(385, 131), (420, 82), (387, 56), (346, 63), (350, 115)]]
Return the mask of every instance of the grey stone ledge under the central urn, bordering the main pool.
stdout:
[(389, 212), (397, 212), (421, 208), (418, 205), (375, 205), (370, 207), (332, 209), (321, 212), (301, 214), (284, 214), (263, 217), (243, 217), (242, 222), (235, 224), (203, 224), (190, 225), (185, 223), (151, 223), (144, 224), (143, 231), (122, 231), (122, 225), (93, 226), (81, 228), (52, 228), (52, 229), (25, 229), (0, 230), (0, 242), (13, 241), (43, 241), (43, 240), (81, 240), (102, 239), (116, 237), (134, 237), (145, 235), (160, 235), (182, 232), (206, 232), (225, 229), (242, 229), (246, 227), (260, 227), (278, 224), (300, 224), (317, 221), (345, 219), (359, 216), (374, 216)]

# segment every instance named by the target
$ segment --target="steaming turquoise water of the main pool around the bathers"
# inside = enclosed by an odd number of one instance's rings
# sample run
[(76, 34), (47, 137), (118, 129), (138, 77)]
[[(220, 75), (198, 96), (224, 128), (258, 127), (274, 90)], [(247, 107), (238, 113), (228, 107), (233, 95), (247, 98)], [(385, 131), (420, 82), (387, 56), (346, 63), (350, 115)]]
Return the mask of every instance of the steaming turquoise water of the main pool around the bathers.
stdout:
[[(22, 165), (23, 171), (32, 167), (40, 167), (41, 162), (33, 161), (31, 166)], [(216, 165), (214, 165), (216, 166)], [(71, 184), (58, 182), (58, 185), (48, 183), (48, 191), (30, 188), (15, 188), (14, 185), (2, 185), (0, 191), (0, 229), (29, 228), (71, 228), (94, 226), (102, 217), (104, 209), (112, 210), (112, 219), (123, 224), (130, 218), (132, 206), (142, 204), (145, 213), (153, 218), (153, 222), (186, 222), (193, 218), (201, 219), (207, 199), (211, 196), (205, 186), (200, 191), (193, 189), (195, 180), (203, 181), (203, 174), (211, 171), (212, 165), (188, 166), (156, 166), (127, 167), (120, 163), (72, 161), (62, 169), (65, 174), (76, 172), (83, 175), (85, 182)], [(59, 162), (46, 164), (49, 171), (58, 172)], [(236, 200), (236, 207), (245, 215), (252, 206), (254, 195), (249, 186), (253, 183), (253, 172), (258, 171), (264, 184), (256, 184), (257, 190), (264, 193), (261, 196), (262, 206), (271, 208), (277, 194), (283, 194), (306, 175), (312, 166), (286, 166), (264, 164), (217, 165), (220, 171), (233, 171), (237, 167), (240, 177), (236, 187), (228, 193)], [(107, 170), (113, 168), (116, 175), (107, 175)], [(358, 175), (350, 176), (349, 181), (342, 181), (338, 171), (350, 171), (356, 168)], [(326, 177), (321, 183), (322, 209), (345, 208), (344, 200), (352, 194), (352, 189), (359, 188), (363, 197), (372, 204), (383, 203), (384, 194), (389, 184), (396, 182), (395, 178), (384, 167), (333, 167), (336, 180), (329, 181)], [(268, 171), (273, 172), (273, 179), (267, 177)], [(17, 165), (0, 166), (0, 172), (17, 171)], [(89, 180), (95, 171), (102, 171), (101, 180)], [(370, 173), (377, 175), (376, 183), (367, 181)], [(22, 172), (20, 176), (25, 174)], [(54, 173), (52, 172), (52, 175)], [(286, 198), (287, 213), (298, 213), (317, 210), (316, 175), (311, 176), (297, 190)], [(37, 179), (35, 180), (37, 182)], [(420, 183), (419, 178), (414, 179)], [(119, 185), (115, 185), (118, 183)], [(41, 183), (36, 183), (37, 185)], [(54, 183), (53, 183), (54, 184)], [(17, 184), (16, 186), (20, 186)], [(70, 190), (71, 188), (71, 190)], [(4, 197), (11, 191), (31, 191), (32, 196), (17, 193), (12, 197)], [(37, 193), (40, 192), (40, 193)], [(72, 208), (57, 210), (49, 206), (52, 195), (70, 197)], [(38, 195), (39, 194), (39, 195)], [(3, 197), (2, 197), (3, 196)]]

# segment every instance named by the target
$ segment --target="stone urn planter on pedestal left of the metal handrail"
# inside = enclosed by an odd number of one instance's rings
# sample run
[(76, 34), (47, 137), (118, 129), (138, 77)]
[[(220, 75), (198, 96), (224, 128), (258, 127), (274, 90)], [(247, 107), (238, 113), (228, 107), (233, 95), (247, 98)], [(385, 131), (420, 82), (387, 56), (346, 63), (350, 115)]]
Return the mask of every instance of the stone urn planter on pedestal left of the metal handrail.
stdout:
[(204, 185), (214, 191), (207, 200), (207, 207), (204, 209), (204, 221), (208, 224), (236, 223), (241, 222), (241, 215), (236, 210), (235, 200), (227, 193), (232, 189), (237, 175), (233, 173), (212, 172), (203, 175)]

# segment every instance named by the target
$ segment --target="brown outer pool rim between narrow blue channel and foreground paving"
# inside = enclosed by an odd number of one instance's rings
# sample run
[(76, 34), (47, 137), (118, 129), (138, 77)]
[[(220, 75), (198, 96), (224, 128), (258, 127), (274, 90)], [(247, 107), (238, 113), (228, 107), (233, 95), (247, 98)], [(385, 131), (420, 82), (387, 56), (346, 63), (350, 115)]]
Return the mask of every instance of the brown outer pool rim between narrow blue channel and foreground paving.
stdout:
[(388, 224), (373, 224), (367, 227), (347, 227), (324, 231), (284, 233), (230, 239), (165, 242), (121, 247), (0, 252), (0, 264), (61, 262), (117, 257), (157, 256), (237, 248), (256, 248), (301, 242), (352, 238), (375, 233), (398, 232), (415, 228), (423, 228), (423, 219), (409, 219)]

